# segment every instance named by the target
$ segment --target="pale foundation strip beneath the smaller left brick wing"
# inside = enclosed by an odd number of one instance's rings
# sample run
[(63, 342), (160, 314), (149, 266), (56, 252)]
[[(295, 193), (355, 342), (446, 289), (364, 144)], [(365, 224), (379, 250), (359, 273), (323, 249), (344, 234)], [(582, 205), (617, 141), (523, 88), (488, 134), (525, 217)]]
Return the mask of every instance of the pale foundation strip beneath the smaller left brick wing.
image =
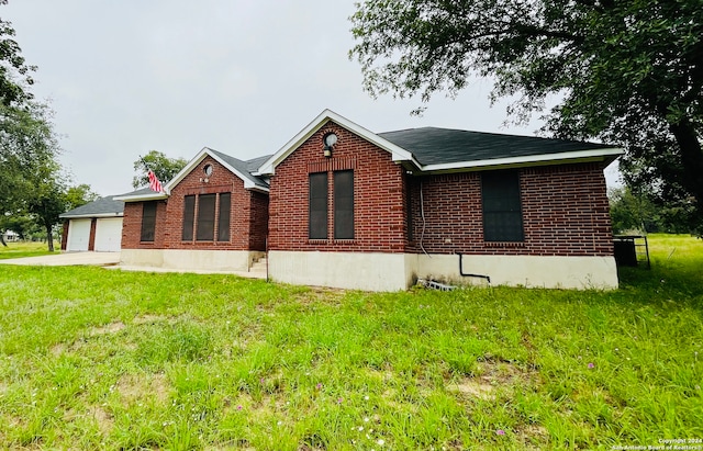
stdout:
[(122, 249), (120, 264), (198, 271), (248, 271), (265, 253), (255, 250)]

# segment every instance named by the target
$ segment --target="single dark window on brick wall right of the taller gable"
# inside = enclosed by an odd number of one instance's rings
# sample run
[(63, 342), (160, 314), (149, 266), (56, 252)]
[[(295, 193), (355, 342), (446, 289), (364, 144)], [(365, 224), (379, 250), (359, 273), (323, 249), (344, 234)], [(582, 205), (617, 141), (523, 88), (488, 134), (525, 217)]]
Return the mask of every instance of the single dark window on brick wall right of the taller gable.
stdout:
[(483, 239), (523, 241), (523, 215), (517, 171), (490, 171), (481, 174)]

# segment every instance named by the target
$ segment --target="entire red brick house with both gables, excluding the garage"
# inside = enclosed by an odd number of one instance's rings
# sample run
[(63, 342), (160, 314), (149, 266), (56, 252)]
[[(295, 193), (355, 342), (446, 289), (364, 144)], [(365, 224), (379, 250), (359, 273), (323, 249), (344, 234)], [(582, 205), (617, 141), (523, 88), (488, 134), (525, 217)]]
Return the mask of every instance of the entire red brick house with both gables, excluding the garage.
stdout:
[(271, 156), (205, 148), (166, 193), (120, 196), (122, 262), (246, 270), (267, 252), (269, 277), (295, 284), (612, 289), (603, 169), (621, 154), (434, 127), (375, 134), (325, 110)]

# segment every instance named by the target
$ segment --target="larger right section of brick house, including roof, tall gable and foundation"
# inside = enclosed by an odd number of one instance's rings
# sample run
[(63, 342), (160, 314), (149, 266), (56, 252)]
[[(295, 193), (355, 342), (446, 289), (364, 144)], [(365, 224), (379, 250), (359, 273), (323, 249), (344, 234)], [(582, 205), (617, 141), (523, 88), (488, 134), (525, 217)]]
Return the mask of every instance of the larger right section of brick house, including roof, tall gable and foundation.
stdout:
[(375, 134), (324, 111), (269, 179), (274, 280), (616, 287), (609, 146), (444, 128)]

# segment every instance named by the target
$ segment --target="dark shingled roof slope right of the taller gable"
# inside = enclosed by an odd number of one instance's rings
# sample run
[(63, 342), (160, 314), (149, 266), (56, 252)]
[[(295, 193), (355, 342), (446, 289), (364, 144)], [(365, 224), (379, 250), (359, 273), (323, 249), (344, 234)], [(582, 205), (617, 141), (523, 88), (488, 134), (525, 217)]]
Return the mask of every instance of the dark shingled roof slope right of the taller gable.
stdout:
[(576, 140), (437, 127), (401, 129), (378, 135), (412, 153), (423, 166), (613, 148)]

